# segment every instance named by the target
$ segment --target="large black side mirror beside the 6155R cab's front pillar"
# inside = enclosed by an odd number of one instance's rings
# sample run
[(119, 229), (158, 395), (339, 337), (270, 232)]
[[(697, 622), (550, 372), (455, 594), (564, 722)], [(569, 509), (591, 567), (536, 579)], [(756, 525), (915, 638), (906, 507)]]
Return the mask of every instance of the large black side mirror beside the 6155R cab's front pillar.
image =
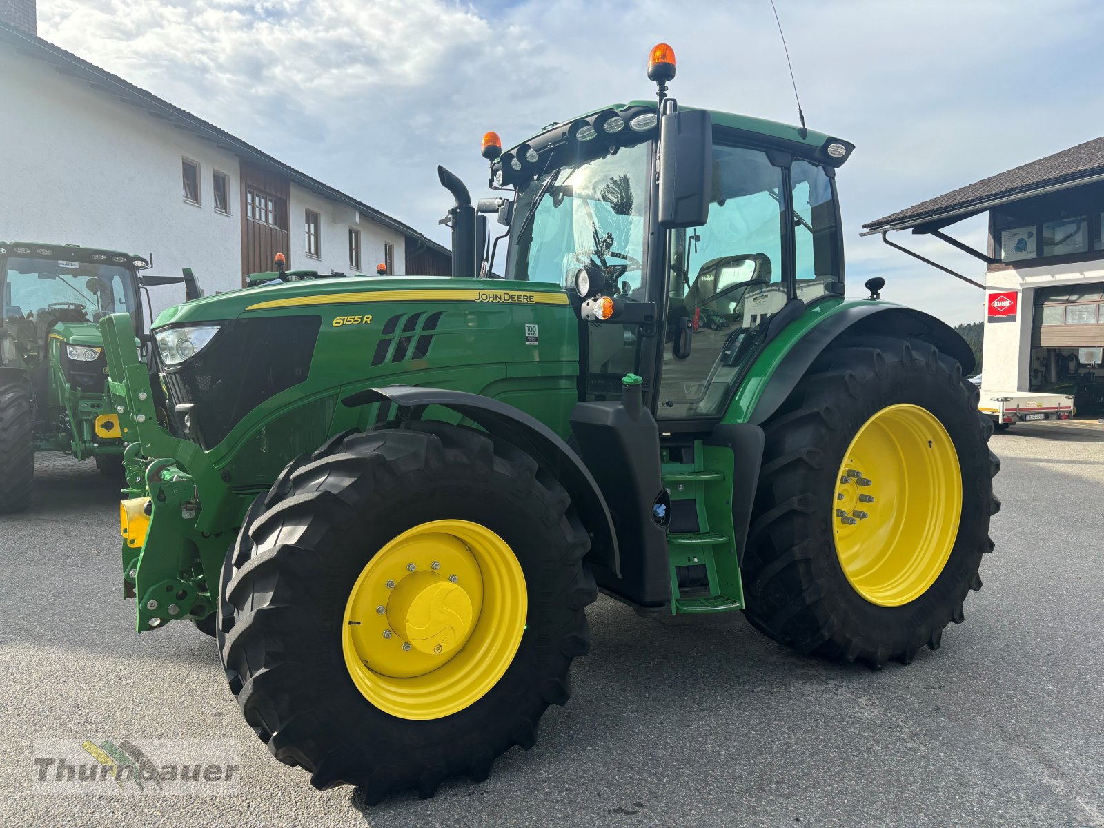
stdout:
[(664, 114), (659, 124), (659, 225), (700, 227), (713, 200), (713, 123), (704, 109)]

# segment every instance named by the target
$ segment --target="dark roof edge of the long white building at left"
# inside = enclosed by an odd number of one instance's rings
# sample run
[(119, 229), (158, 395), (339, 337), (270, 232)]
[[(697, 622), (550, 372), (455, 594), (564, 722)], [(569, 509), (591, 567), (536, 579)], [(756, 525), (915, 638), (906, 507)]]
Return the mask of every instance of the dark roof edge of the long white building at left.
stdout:
[(422, 242), (426, 246), (436, 250), (439, 253), (449, 253), (447, 247), (427, 238), (408, 224), (404, 224), (397, 219), (393, 219), (386, 213), (369, 206), (364, 202), (354, 199), (348, 193), (341, 192), (340, 190), (284, 163), (267, 152), (264, 152), (253, 145), (243, 141), (237, 136), (231, 135), (225, 129), (220, 129), (214, 124), (203, 120), (202, 118), (181, 109), (179, 106), (174, 106), (168, 100), (159, 98), (157, 95), (135, 86), (128, 81), (124, 81), (118, 75), (114, 75), (105, 68), (100, 68), (83, 57), (78, 57), (72, 52), (66, 52), (64, 49), (55, 46), (53, 43), (50, 43), (42, 38), (38, 38), (6, 23), (0, 23), (0, 45), (11, 46), (23, 51), (30, 56), (46, 61), (47, 63), (56, 66), (63, 74), (86, 81), (102, 92), (106, 91), (118, 95), (127, 103), (146, 109), (152, 115), (167, 118), (177, 125), (191, 130), (205, 140), (230, 149), (248, 161), (280, 172), (300, 187), (305, 187), (308, 190), (321, 193), (322, 195), (333, 199), (335, 201), (348, 204), (372, 221)]

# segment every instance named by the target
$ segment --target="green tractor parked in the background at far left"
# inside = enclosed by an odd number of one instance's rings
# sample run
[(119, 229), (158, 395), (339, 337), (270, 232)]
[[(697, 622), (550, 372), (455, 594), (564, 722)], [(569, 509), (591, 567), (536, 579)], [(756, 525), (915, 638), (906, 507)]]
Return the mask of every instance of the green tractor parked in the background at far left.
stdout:
[(0, 242), (0, 514), (30, 503), (35, 452), (121, 477), (129, 424), (104, 390), (99, 320), (126, 312), (140, 331), (139, 289), (185, 282), (146, 267), (121, 251)]

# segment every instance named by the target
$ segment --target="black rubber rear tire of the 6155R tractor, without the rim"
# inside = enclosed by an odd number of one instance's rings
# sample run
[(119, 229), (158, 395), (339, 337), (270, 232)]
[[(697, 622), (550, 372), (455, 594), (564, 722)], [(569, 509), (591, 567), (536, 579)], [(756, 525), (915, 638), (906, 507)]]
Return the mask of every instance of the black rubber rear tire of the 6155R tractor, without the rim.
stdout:
[[(976, 411), (977, 397), (960, 365), (926, 343), (841, 340), (818, 358), (764, 425), (743, 564), (752, 625), (798, 652), (875, 668), (890, 658), (909, 664), (924, 645), (940, 647), (944, 627), (962, 623), (967, 593), (981, 588), (981, 555), (992, 550), (989, 517), (1000, 507), (991, 481), (1000, 461), (986, 446), (991, 428)], [(948, 545), (954, 538), (949, 555), (942, 569), (931, 570), (934, 580), (914, 599), (889, 606), (864, 597), (845, 572), (836, 499), (852, 439), (894, 405), (919, 406), (946, 431), (960, 469), (962, 507), (957, 534), (946, 535)], [(905, 512), (913, 496), (903, 502), (889, 520)], [(878, 549), (863, 542), (863, 554)]]

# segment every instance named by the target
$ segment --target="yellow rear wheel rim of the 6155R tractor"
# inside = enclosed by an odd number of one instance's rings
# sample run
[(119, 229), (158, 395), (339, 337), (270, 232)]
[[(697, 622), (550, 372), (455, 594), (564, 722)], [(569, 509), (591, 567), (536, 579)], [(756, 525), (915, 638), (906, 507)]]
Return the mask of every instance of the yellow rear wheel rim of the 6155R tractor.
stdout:
[(958, 534), (963, 484), (954, 443), (919, 405), (890, 405), (843, 455), (832, 509), (836, 554), (863, 598), (901, 606), (935, 583)]

